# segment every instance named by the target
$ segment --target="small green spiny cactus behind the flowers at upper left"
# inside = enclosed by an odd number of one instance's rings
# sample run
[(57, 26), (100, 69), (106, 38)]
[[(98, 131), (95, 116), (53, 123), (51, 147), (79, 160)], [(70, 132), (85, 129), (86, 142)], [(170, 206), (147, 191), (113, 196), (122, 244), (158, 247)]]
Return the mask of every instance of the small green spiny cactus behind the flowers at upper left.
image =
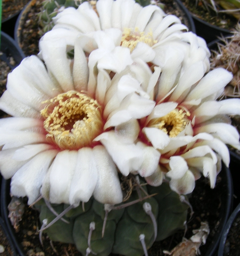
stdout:
[(45, 0), (41, 12), (38, 14), (39, 24), (43, 28), (42, 34), (51, 30), (54, 26), (52, 18), (67, 7), (78, 8), (86, 0)]

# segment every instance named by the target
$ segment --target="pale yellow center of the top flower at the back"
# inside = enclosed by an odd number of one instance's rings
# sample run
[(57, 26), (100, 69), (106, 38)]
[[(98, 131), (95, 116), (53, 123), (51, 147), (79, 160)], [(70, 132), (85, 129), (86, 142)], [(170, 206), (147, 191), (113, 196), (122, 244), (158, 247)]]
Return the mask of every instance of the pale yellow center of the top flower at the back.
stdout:
[(120, 44), (122, 47), (128, 47), (132, 52), (139, 42), (148, 44), (149, 46), (153, 46), (157, 43), (156, 40), (153, 40), (152, 32), (145, 34), (145, 32), (140, 32), (138, 28), (135, 28), (134, 30), (130, 28), (124, 29)]

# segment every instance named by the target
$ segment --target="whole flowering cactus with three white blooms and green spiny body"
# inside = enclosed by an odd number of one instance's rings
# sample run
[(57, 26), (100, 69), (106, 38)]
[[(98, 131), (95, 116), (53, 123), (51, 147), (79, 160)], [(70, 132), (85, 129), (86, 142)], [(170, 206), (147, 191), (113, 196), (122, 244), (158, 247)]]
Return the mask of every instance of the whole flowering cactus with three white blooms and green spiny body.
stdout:
[(214, 188), (226, 144), (240, 148), (223, 121), (232, 101), (216, 101), (232, 75), (207, 73), (205, 41), (158, 6), (99, 0), (96, 11), (59, 13), (41, 59), (9, 75), (0, 170), (40, 210), (40, 237), (85, 255), (147, 255), (184, 227), (195, 180)]

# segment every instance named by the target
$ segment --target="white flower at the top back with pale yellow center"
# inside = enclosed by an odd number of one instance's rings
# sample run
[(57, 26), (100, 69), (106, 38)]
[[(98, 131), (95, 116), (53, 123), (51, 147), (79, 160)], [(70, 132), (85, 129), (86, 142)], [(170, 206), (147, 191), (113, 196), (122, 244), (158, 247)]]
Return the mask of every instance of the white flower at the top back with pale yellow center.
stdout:
[(56, 40), (64, 38), (71, 49), (79, 38), (84, 52), (89, 54), (98, 49), (91, 55), (93, 67), (97, 62), (100, 67), (102, 63), (110, 65), (116, 59), (122, 60), (128, 48), (133, 61), (140, 58), (164, 67), (172, 63), (174, 55), (186, 61), (190, 54), (193, 57), (188, 62), (198, 59), (204, 61), (205, 72), (209, 69), (210, 52), (205, 41), (187, 32), (178, 17), (166, 15), (156, 5), (142, 7), (134, 0), (98, 0), (93, 7), (86, 1), (78, 9), (65, 9), (54, 22), (53, 29), (41, 38), (40, 55), (44, 41), (47, 44), (52, 41), (54, 45)]

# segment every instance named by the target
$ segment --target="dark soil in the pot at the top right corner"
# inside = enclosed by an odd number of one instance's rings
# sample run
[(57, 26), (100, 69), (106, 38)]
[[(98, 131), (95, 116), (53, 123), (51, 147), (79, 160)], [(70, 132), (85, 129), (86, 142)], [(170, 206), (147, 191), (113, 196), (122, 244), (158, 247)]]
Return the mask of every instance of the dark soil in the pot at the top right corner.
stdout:
[(196, 6), (196, 0), (182, 0), (189, 12), (211, 25), (218, 26), (222, 29), (231, 29), (237, 24), (237, 19), (231, 15), (214, 12), (213, 10), (206, 10), (203, 1), (199, 0)]

